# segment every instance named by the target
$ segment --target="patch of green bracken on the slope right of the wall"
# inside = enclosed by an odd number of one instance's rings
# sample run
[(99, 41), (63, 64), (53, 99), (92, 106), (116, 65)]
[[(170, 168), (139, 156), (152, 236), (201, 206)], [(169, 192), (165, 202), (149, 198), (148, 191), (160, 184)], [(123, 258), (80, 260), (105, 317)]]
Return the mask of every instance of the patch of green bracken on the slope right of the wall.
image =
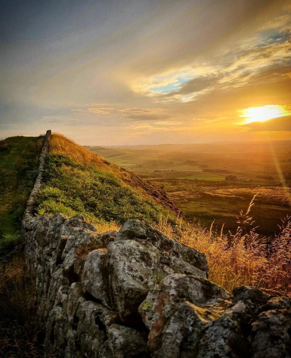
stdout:
[(45, 180), (37, 201), (38, 215), (83, 214), (94, 224), (129, 219), (154, 223), (161, 216), (174, 222), (174, 214), (138, 188), (125, 185), (116, 175), (94, 165), (78, 164), (64, 154), (49, 154)]

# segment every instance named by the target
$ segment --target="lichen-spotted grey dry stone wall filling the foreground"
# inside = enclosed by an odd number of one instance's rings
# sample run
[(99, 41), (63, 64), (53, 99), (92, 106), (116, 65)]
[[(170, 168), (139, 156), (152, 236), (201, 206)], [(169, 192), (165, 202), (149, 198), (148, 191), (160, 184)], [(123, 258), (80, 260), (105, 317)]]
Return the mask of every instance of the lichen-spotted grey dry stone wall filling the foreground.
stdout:
[(82, 215), (29, 210), (26, 261), (48, 357), (290, 357), (286, 297), (250, 286), (231, 296), (207, 279), (203, 253), (139, 221), (100, 234)]

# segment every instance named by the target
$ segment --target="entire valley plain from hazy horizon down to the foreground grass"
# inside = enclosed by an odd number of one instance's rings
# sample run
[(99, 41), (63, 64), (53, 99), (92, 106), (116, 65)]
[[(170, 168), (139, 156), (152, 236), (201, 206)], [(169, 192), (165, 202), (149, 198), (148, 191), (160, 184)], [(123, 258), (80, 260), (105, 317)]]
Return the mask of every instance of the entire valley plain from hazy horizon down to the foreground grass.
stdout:
[[(291, 214), (291, 142), (86, 147), (165, 190), (189, 221), (235, 231), (255, 194), (251, 215), (273, 237)], [(225, 178), (228, 177), (226, 180)]]

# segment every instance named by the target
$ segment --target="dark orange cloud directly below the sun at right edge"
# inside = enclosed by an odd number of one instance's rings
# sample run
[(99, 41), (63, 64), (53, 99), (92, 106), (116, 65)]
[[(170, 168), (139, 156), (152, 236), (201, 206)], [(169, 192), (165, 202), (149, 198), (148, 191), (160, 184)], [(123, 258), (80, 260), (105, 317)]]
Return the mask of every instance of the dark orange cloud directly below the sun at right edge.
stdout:
[(256, 132), (265, 132), (265, 131), (291, 131), (291, 115), (285, 117), (272, 118), (265, 122), (252, 122), (249, 124), (244, 124), (242, 127)]

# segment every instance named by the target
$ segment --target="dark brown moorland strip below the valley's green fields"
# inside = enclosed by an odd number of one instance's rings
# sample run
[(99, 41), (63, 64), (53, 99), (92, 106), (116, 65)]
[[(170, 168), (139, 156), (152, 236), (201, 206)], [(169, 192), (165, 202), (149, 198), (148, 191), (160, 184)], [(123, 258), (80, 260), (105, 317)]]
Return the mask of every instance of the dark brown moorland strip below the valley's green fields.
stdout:
[(151, 182), (164, 188), (186, 219), (208, 228), (215, 220), (217, 231), (224, 224), (224, 232), (234, 232), (240, 210), (246, 211), (255, 194), (251, 216), (261, 236), (273, 237), (280, 231), (281, 219), (291, 214), (290, 188), (161, 178), (152, 178)]

